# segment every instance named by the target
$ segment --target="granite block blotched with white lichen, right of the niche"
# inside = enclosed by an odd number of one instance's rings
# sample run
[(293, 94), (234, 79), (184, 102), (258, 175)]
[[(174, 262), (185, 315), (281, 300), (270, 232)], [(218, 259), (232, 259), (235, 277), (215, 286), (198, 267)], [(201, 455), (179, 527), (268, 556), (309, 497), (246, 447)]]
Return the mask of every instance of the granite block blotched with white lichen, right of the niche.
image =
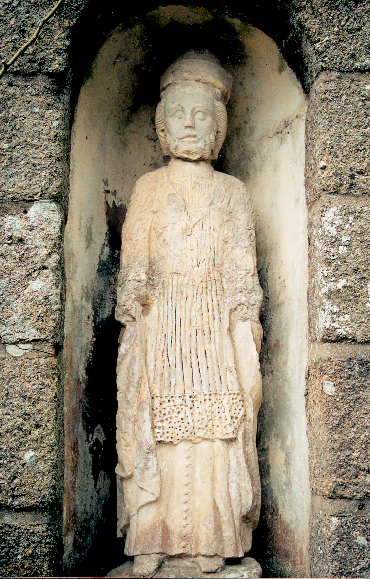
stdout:
[(370, 199), (322, 199), (309, 224), (311, 336), (370, 339)]

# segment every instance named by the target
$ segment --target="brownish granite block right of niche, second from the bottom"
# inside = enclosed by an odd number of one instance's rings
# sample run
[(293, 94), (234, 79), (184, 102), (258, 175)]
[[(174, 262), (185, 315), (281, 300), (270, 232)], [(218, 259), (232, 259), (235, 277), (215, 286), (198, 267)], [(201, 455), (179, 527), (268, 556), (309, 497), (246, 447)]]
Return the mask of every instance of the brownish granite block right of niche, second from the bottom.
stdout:
[(370, 361), (315, 361), (307, 384), (311, 489), (330, 499), (370, 498)]

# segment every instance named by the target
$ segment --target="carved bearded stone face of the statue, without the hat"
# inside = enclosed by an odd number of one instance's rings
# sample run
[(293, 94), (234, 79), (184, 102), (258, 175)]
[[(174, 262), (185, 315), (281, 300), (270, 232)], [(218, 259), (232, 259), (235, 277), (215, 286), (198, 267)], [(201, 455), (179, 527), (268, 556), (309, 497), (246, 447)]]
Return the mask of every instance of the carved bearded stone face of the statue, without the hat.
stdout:
[(174, 90), (164, 103), (166, 144), (174, 157), (210, 160), (216, 138), (216, 109), (207, 90)]

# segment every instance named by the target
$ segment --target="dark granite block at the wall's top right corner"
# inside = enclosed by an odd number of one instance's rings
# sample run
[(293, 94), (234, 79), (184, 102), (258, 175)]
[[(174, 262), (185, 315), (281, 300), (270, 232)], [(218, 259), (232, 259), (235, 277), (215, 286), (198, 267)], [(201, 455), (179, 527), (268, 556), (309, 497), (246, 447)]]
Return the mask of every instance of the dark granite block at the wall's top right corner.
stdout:
[(304, 33), (306, 75), (313, 80), (322, 70), (370, 69), (370, 5), (366, 0), (295, 0), (292, 20)]

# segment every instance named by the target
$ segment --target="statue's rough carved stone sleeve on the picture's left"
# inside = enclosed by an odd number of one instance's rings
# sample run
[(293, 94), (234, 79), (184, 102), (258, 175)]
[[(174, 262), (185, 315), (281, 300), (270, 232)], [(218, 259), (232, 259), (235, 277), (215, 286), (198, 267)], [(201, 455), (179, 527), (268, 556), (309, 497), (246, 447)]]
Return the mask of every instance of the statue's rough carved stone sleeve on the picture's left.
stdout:
[(133, 189), (122, 228), (121, 266), (118, 276), (115, 317), (122, 324), (136, 321), (147, 301), (148, 232), (151, 222), (150, 190)]

